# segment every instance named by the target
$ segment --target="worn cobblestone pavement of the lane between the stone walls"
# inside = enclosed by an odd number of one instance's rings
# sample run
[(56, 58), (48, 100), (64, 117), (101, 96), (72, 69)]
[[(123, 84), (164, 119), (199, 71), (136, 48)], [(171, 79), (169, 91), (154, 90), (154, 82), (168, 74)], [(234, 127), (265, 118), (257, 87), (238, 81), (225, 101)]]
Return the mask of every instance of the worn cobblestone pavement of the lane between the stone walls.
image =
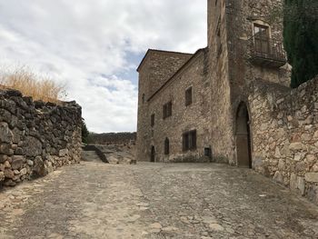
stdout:
[(1, 192), (0, 238), (318, 238), (318, 207), (224, 164), (82, 162)]

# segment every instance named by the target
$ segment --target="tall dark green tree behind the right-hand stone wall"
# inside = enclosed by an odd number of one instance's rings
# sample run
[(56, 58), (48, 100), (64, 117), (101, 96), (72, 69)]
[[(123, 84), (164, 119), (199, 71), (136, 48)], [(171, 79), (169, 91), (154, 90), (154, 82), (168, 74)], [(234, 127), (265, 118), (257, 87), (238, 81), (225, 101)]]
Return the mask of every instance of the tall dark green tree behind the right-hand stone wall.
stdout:
[(293, 88), (318, 75), (318, 1), (285, 0), (283, 44), (293, 66)]

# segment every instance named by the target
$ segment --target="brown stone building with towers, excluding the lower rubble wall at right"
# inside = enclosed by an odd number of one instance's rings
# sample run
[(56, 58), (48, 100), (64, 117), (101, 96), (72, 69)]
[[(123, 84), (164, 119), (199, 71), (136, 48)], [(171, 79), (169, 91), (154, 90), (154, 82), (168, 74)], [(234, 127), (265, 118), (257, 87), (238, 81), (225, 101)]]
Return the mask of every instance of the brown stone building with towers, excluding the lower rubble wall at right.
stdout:
[(288, 85), (282, 25), (269, 21), (277, 5), (281, 0), (208, 0), (206, 48), (147, 52), (138, 67), (138, 160), (252, 166), (251, 85)]

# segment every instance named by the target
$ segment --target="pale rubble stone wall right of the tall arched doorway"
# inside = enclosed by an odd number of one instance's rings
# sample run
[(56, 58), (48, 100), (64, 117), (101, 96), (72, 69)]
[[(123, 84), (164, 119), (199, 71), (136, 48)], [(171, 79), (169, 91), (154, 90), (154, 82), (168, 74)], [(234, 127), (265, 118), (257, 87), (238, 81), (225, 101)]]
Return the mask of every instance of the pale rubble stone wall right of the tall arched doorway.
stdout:
[(318, 204), (318, 77), (293, 90), (252, 88), (253, 168)]

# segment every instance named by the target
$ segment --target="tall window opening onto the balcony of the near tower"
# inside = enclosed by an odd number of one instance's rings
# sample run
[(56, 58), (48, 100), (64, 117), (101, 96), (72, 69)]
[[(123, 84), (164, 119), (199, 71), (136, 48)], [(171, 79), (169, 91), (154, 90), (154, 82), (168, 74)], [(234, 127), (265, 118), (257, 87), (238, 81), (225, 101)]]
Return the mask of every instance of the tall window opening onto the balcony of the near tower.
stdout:
[(253, 25), (255, 51), (262, 54), (270, 53), (270, 34), (269, 26)]

